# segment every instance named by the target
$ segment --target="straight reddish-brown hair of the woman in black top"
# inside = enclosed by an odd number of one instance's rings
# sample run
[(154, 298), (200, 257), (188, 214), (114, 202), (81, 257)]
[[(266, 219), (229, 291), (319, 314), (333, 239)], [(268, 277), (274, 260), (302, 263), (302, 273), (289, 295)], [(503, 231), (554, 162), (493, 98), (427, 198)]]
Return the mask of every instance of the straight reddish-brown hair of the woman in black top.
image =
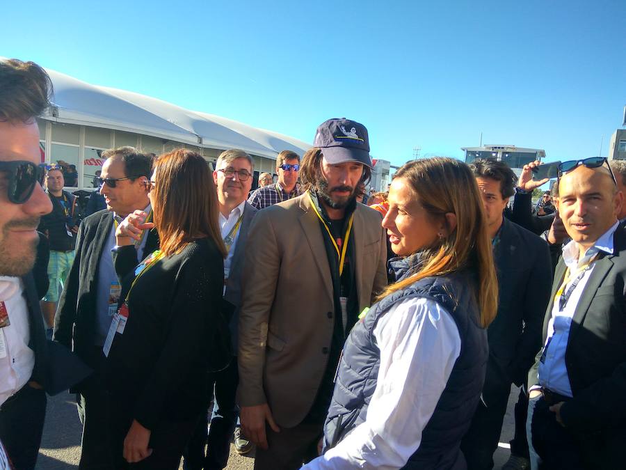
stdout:
[(179, 148), (154, 162), (154, 225), (161, 251), (179, 253), (195, 237), (213, 239), (222, 256), (226, 248), (218, 226), (217, 189), (207, 162)]

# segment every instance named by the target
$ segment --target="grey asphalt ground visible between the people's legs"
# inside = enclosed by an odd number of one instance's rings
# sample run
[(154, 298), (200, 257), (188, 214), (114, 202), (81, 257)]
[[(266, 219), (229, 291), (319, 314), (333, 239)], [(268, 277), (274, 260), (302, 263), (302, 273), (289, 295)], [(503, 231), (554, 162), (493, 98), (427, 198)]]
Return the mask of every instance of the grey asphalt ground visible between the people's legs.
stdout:
[[(500, 436), (500, 445), (495, 453), (495, 469), (508, 460), (508, 441), (513, 439), (513, 405), (517, 401), (518, 389), (513, 388), (508, 400), (504, 425)], [(49, 398), (46, 422), (37, 470), (51, 469), (78, 469), (81, 455), (81, 423), (76, 411), (74, 396), (61, 393), (56, 397)], [(254, 467), (253, 457), (244, 457), (236, 453), (234, 446), (230, 446), (230, 458), (228, 470), (252, 470)], [(179, 467), (182, 470), (182, 465)]]

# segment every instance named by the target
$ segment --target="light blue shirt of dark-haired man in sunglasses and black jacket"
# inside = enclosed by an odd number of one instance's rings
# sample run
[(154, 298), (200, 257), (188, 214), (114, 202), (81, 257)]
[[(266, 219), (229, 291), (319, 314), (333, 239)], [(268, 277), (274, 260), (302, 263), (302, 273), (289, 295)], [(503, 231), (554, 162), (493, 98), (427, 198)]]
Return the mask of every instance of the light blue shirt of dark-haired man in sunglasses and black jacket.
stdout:
[[(150, 213), (152, 207), (150, 204), (145, 207), (143, 212)], [(113, 219), (120, 224), (124, 218), (118, 216), (113, 212)], [(137, 259), (143, 259), (143, 250), (145, 249), (145, 242), (147, 240), (147, 233), (141, 239), (141, 244), (137, 246)], [(100, 263), (98, 265), (98, 284), (96, 291), (96, 308), (97, 308), (97, 331), (95, 336), (95, 345), (104, 345), (106, 335), (109, 334), (109, 328), (111, 327), (111, 315), (109, 313), (109, 297), (111, 295), (111, 285), (119, 285), (118, 274), (115, 273), (115, 266), (113, 266), (113, 256), (111, 251), (115, 248), (115, 223), (111, 224), (111, 230), (104, 242), (104, 249), (100, 255)]]

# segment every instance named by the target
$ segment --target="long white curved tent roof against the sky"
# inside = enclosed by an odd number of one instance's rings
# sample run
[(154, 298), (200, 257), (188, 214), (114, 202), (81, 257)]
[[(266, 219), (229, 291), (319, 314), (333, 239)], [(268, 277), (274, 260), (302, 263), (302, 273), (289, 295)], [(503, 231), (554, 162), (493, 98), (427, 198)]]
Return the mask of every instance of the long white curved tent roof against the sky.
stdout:
[(311, 148), (306, 142), (277, 132), (46, 71), (54, 85), (54, 108), (42, 116), (44, 119), (136, 132), (205, 148), (241, 148), (269, 158), (282, 150), (293, 150), (301, 156)]

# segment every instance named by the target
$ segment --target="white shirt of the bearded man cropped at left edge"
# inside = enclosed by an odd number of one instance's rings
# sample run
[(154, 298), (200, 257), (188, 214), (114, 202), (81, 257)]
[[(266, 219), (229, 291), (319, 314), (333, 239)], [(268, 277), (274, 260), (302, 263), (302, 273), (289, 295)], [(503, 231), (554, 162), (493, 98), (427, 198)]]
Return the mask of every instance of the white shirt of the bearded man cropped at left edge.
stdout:
[(31, 379), (35, 352), (29, 347), (29, 310), (22, 295), (24, 283), (18, 277), (0, 276), (0, 301), (4, 302), (10, 324), (0, 328), (0, 405)]

